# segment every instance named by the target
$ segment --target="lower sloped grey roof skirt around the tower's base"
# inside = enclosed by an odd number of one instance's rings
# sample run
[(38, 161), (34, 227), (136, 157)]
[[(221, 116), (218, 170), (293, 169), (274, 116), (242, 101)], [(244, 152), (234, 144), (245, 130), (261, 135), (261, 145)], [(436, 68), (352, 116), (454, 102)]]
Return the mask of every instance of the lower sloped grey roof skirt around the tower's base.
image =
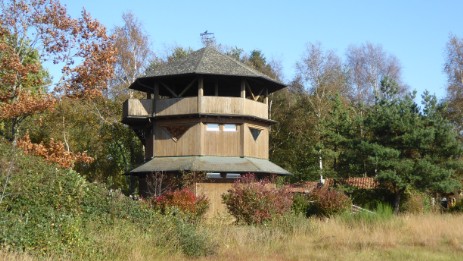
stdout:
[(155, 157), (133, 169), (131, 173), (157, 171), (291, 174), (275, 163), (265, 159), (218, 156)]

